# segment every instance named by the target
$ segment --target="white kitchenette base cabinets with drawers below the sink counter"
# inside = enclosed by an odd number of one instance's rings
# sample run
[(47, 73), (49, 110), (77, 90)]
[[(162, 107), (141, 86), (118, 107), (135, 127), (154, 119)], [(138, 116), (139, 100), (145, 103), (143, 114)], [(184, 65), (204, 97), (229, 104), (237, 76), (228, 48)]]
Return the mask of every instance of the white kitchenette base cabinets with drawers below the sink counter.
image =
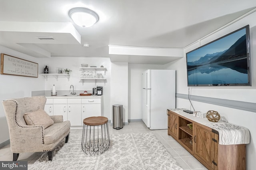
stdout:
[(101, 116), (100, 98), (48, 98), (44, 110), (48, 115), (62, 115), (71, 126), (82, 126), (87, 117)]

